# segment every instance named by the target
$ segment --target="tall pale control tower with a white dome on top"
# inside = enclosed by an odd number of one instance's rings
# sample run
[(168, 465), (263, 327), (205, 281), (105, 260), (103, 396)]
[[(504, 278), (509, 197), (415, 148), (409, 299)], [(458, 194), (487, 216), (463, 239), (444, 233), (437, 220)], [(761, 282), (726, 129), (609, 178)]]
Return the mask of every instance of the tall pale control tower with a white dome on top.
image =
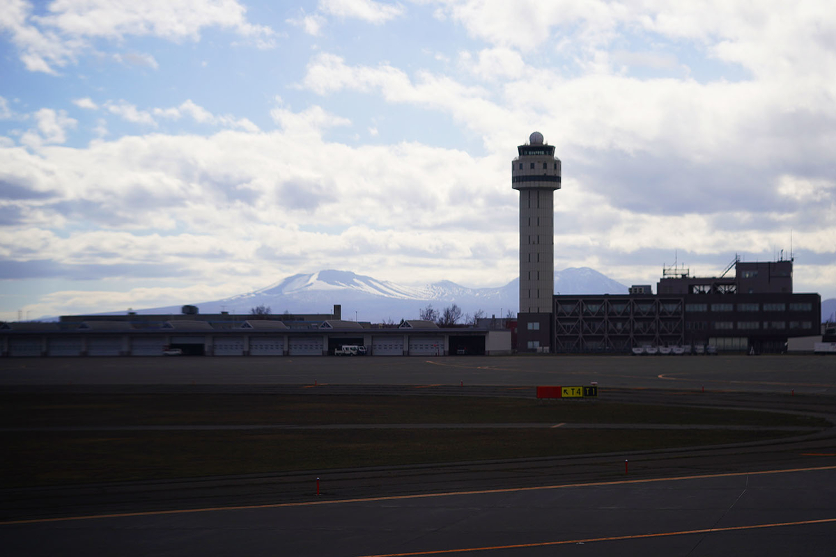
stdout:
[(549, 350), (554, 295), (554, 190), (560, 160), (554, 146), (534, 132), (517, 147), (511, 187), (520, 192), (520, 306), (517, 350)]

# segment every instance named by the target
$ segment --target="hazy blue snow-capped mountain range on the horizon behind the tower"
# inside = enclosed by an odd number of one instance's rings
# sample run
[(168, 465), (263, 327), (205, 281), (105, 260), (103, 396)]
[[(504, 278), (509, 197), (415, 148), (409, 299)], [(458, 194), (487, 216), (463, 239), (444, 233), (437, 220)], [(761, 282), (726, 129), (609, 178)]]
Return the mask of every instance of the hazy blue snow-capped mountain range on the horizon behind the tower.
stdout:
[[(561, 294), (623, 294), (627, 287), (588, 267), (554, 273), (554, 290)], [(249, 313), (268, 306), (272, 313), (330, 313), (342, 306), (344, 319), (370, 322), (415, 319), (428, 304), (441, 311), (456, 304), (464, 314), (514, 315), (519, 305), (519, 279), (497, 288), (469, 288), (451, 281), (426, 286), (404, 286), (350, 271), (318, 271), (288, 276), (260, 290), (217, 301), (196, 303), (201, 313)], [(179, 313), (180, 306), (142, 310), (140, 313)]]

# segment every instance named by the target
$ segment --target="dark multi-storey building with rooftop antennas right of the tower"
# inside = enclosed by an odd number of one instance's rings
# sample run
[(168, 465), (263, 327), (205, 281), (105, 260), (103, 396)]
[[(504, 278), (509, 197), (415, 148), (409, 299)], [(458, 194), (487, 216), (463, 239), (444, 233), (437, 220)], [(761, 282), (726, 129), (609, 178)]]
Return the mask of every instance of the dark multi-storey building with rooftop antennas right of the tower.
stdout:
[[(687, 271), (630, 294), (554, 296), (553, 352), (631, 352), (636, 347), (714, 347), (783, 352), (788, 338), (818, 334), (821, 297), (793, 293), (793, 261), (735, 262), (735, 276)], [(521, 326), (528, 327), (528, 326)], [(538, 342), (540, 341), (540, 342)], [(548, 344), (543, 344), (548, 342)]]

